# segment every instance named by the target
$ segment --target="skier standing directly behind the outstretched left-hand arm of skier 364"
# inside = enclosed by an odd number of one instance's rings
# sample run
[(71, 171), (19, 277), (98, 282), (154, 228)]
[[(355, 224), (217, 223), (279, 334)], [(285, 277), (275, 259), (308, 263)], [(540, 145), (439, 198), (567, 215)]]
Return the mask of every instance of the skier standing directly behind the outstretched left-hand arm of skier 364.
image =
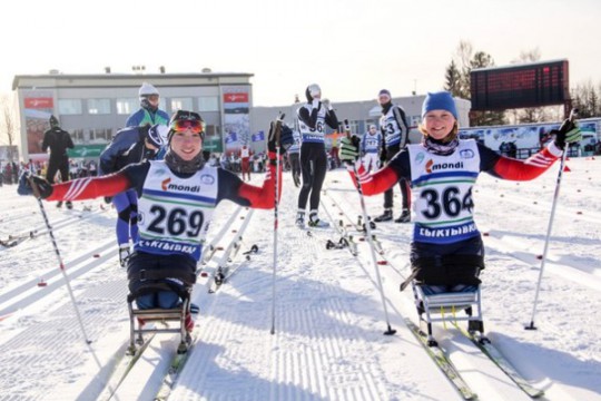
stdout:
[[(401, 106), (392, 102), (391, 92), (382, 89), (377, 95), (377, 101), (382, 106), (382, 117), (380, 118), (380, 129), (382, 130), (383, 162), (388, 163), (407, 144), (408, 125), (405, 110)], [(411, 221), (411, 188), (405, 178), (400, 179), (401, 195), (403, 196), (403, 211), (395, 223), (408, 223)], [(393, 219), (393, 188), (384, 193), (384, 213), (374, 218), (374, 222), (390, 222)]]

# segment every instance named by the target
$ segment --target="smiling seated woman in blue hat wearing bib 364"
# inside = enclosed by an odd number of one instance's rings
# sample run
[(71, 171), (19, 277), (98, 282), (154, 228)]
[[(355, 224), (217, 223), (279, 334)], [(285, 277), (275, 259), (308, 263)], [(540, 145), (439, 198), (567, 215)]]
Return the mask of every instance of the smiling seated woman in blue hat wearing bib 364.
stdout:
[(484, 246), (473, 219), (472, 188), (480, 172), (502, 179), (536, 178), (562, 155), (566, 143), (577, 141), (582, 135), (568, 119), (555, 133), (555, 140), (529, 159), (501, 156), (474, 139), (457, 137), (457, 111), (446, 91), (426, 96), (420, 131), (424, 135), (421, 144), (408, 145), (376, 173), (367, 174), (355, 162), (358, 148), (349, 138), (343, 139), (341, 158), (357, 165), (365, 195), (381, 194), (402, 178), (413, 184), (413, 273), (401, 288), (412, 280), (440, 285), (440, 292), (459, 290), (455, 285), (479, 284)]

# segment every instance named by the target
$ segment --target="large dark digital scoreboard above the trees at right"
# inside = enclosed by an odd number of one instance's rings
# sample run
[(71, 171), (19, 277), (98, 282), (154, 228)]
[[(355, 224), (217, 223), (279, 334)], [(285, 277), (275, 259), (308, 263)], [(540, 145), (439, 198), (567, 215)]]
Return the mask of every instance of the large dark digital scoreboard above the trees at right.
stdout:
[(473, 69), (472, 110), (504, 110), (565, 104), (568, 60)]

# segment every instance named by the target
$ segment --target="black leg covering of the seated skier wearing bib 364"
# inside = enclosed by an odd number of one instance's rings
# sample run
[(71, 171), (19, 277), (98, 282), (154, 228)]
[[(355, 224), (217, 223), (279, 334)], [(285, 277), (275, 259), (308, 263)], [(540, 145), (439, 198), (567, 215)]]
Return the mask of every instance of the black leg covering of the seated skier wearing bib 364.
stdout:
[(484, 257), (480, 255), (446, 255), (420, 257), (412, 263), (411, 276), (401, 284), (403, 291), (413, 280), (426, 285), (479, 285)]

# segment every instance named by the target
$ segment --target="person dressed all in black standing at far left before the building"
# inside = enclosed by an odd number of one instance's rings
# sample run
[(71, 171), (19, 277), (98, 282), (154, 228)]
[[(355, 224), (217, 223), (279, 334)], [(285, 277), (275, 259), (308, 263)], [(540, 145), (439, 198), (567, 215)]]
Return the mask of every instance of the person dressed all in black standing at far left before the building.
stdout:
[[(69, 180), (69, 155), (67, 155), (67, 149), (72, 149), (75, 145), (69, 133), (60, 128), (57, 117), (50, 116), (49, 123), (50, 129), (43, 133), (42, 150), (48, 151), (50, 149), (46, 179), (53, 184), (57, 172), (60, 172), (61, 182)], [(57, 203), (57, 207), (61, 206), (62, 202)], [(73, 207), (71, 202), (67, 202), (67, 207)]]

